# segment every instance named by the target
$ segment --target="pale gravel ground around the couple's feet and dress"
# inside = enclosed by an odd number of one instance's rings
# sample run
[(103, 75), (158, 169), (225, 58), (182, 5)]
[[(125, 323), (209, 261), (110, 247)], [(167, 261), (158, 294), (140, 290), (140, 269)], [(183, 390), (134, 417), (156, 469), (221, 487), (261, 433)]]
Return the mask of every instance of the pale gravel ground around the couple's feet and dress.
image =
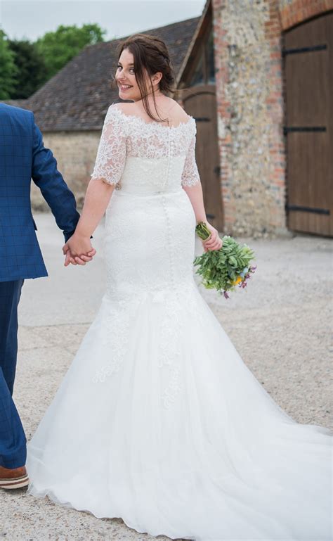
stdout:
[[(51, 215), (37, 215), (50, 276), (26, 281), (20, 303), (15, 403), (28, 440), (98, 310), (105, 287), (102, 230), (86, 267), (63, 267), (63, 236)], [(225, 300), (200, 291), (268, 393), (296, 421), (333, 428), (329, 379), (333, 241), (310, 235), (239, 238), (256, 252), (247, 291)], [(197, 253), (200, 253), (197, 241)], [(64, 509), (25, 489), (0, 491), (0, 538), (6, 540), (148, 540), (121, 518)], [(160, 541), (169, 538), (159, 536)]]

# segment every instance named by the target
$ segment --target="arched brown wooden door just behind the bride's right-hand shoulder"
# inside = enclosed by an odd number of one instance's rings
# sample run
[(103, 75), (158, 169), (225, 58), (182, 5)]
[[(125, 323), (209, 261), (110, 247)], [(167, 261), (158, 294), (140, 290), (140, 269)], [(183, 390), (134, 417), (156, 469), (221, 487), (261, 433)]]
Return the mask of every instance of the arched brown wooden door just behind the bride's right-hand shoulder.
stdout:
[(197, 123), (195, 158), (206, 215), (218, 231), (223, 231), (215, 85), (202, 84), (184, 90), (182, 100), (186, 113), (194, 117)]

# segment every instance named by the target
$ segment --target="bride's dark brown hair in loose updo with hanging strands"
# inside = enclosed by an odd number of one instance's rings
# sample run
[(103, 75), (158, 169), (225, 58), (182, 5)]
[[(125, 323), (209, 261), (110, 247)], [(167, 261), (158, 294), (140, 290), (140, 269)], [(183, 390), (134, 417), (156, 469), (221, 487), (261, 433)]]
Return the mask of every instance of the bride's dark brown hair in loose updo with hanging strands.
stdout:
[[(159, 81), (159, 90), (163, 94), (175, 94), (177, 89), (175, 87), (176, 77), (174, 75), (174, 68), (169, 56), (169, 51), (166, 48), (166, 44), (159, 37), (152, 36), (150, 34), (133, 34), (125, 39), (118, 46), (118, 61), (122, 51), (129, 49), (133, 54), (134, 70), (136, 75), (136, 82), (141, 92), (141, 98), (143, 100), (143, 108), (152, 120), (157, 122), (163, 122), (167, 119), (155, 118), (152, 114), (147, 95), (150, 92), (146, 82), (144, 70), (148, 73), (150, 78), (157, 72), (162, 73), (162, 79)], [(155, 91), (152, 89), (152, 98), (154, 100), (155, 108)]]

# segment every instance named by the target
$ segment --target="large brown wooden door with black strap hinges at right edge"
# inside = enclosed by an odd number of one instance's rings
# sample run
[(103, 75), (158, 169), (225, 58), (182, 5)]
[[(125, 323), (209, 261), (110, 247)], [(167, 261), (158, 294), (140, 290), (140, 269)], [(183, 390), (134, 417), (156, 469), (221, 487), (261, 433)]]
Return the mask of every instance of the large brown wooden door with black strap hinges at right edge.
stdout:
[(333, 235), (333, 13), (285, 33), (288, 227)]

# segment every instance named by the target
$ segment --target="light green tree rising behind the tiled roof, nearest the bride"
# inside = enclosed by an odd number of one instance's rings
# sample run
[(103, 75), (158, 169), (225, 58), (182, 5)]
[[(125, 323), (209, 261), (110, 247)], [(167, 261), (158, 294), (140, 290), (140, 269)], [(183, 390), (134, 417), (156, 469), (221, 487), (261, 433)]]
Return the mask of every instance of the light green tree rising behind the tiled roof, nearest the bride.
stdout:
[(86, 45), (93, 45), (104, 41), (106, 30), (99, 25), (60, 25), (55, 32), (47, 32), (37, 39), (36, 45), (44, 58), (46, 66), (45, 80), (53, 77)]

